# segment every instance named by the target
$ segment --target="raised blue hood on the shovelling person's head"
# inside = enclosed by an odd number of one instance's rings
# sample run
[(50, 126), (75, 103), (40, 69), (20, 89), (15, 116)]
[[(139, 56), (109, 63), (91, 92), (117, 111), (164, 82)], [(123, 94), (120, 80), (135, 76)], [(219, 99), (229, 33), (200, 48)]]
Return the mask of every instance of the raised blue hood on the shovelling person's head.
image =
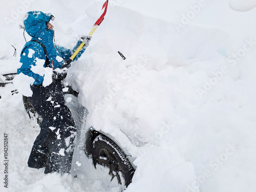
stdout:
[(46, 23), (50, 22), (51, 17), (51, 13), (43, 13), (41, 11), (30, 11), (25, 16), (25, 30), (31, 37), (36, 37), (38, 36), (38, 32), (42, 32), (45, 29), (48, 29)]

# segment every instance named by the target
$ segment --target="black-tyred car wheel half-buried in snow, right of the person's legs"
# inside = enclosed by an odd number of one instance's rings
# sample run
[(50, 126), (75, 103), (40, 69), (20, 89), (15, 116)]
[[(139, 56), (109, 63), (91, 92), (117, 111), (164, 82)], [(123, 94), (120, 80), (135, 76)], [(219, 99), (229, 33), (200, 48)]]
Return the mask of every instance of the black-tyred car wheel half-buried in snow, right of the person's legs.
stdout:
[[(111, 181), (116, 177), (118, 183), (126, 187), (132, 182), (135, 169), (121, 148), (110, 138), (98, 135), (94, 139), (92, 158), (95, 168), (96, 164), (109, 167)], [(124, 183), (120, 176), (123, 177)]]

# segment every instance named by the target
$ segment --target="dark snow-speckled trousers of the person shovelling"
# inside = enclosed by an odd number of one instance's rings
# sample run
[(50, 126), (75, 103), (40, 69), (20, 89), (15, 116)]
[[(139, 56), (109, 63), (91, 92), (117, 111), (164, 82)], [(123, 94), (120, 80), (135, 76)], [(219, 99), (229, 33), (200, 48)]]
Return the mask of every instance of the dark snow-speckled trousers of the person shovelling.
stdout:
[(50, 86), (33, 85), (30, 98), (35, 111), (42, 117), (41, 130), (28, 160), (32, 168), (45, 167), (45, 174), (69, 173), (74, 151), (76, 127), (65, 104), (62, 83)]

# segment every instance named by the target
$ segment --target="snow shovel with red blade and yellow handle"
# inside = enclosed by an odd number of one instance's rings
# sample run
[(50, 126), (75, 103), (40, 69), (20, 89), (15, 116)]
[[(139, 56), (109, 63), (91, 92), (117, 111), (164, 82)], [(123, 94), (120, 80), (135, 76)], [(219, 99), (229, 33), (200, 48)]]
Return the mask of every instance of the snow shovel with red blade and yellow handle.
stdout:
[[(104, 19), (104, 16), (106, 14), (106, 9), (108, 9), (108, 4), (109, 4), (109, 0), (106, 0), (106, 2), (103, 4), (102, 9), (104, 9), (104, 12), (102, 13), (102, 15), (98, 18), (98, 20), (96, 21), (96, 23), (93, 25), (93, 29), (92, 31), (89, 33), (88, 36), (91, 36), (94, 31), (97, 29), (97, 27), (101, 24), (101, 22)], [(63, 68), (69, 68), (70, 67), (70, 63), (73, 61), (73, 59), (75, 58), (75, 56), (79, 53), (79, 51), (82, 49), (82, 47), (84, 46), (84, 42), (82, 42), (80, 44), (80, 46), (77, 48), (77, 50), (73, 53), (73, 55), (67, 60), (67, 62), (65, 63), (65, 65), (62, 66)]]

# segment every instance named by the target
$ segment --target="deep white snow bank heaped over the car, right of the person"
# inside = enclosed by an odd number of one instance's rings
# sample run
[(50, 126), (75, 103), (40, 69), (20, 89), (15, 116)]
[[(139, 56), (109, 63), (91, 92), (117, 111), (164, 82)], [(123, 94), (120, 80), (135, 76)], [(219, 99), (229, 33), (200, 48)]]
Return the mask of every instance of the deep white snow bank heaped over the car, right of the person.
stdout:
[[(253, 36), (234, 39), (233, 27), (198, 25), (178, 33), (175, 22), (130, 9), (111, 14), (120, 16), (106, 24), (122, 31), (100, 31), (110, 38), (91, 46), (92, 54), (71, 71), (86, 72), (74, 81), (90, 111), (88, 124), (130, 146), (120, 129), (141, 146), (130, 149), (138, 168), (127, 191), (196, 191), (197, 186), (200, 191), (240, 191), (247, 182), (242, 178), (254, 173), (244, 166), (245, 159), (255, 167), (255, 155), (246, 157), (255, 147), (252, 138), (246, 139), (248, 133), (255, 136), (255, 121), (249, 118), (255, 89), (247, 76), (252, 78), (253, 70), (246, 70), (254, 69)], [(136, 23), (119, 22), (124, 18), (136, 18)]]

